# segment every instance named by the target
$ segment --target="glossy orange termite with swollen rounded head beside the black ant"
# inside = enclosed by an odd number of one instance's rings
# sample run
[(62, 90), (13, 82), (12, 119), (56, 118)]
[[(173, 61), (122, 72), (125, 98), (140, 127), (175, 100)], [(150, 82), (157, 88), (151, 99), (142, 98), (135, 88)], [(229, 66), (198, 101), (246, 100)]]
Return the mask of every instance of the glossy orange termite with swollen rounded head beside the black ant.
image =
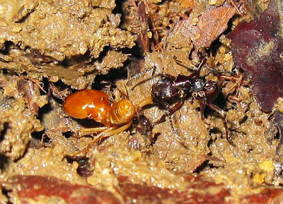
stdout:
[[(151, 103), (151, 99), (145, 100), (138, 107)], [(101, 138), (127, 130), (132, 124), (132, 119), (137, 113), (135, 105), (127, 99), (110, 104), (108, 95), (100, 90), (79, 90), (69, 95), (63, 104), (67, 114), (76, 119), (93, 119), (104, 125), (99, 128), (83, 128), (83, 132), (101, 132), (93, 143)]]

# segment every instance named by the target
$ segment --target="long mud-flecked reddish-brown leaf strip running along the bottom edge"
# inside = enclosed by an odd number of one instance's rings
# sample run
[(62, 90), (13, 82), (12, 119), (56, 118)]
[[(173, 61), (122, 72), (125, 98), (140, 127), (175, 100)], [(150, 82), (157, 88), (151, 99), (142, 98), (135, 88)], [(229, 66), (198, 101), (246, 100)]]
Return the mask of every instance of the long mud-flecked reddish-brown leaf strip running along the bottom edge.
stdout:
[[(118, 188), (123, 200), (119, 200), (109, 191), (98, 190), (89, 185), (71, 184), (55, 177), (14, 176), (0, 186), (8, 192), (8, 198), (21, 203), (40, 203), (40, 199), (61, 198), (66, 203), (236, 203), (231, 189), (224, 184), (216, 184), (211, 179), (192, 174), (183, 175), (187, 186), (180, 191), (134, 184), (126, 176), (119, 176)], [(273, 187), (257, 188), (257, 193), (240, 196), (240, 203), (276, 203), (282, 200), (283, 189)], [(277, 202), (279, 203), (279, 202)]]

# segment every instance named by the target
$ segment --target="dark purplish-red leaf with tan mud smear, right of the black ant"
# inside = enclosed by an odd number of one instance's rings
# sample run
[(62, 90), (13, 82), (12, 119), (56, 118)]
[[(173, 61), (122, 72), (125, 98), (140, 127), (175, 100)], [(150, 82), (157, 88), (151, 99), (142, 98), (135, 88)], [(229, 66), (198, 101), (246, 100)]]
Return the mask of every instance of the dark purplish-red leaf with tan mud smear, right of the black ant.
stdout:
[(264, 112), (270, 112), (277, 98), (283, 97), (280, 2), (270, 1), (259, 19), (241, 23), (228, 35), (235, 65), (252, 78), (253, 95)]

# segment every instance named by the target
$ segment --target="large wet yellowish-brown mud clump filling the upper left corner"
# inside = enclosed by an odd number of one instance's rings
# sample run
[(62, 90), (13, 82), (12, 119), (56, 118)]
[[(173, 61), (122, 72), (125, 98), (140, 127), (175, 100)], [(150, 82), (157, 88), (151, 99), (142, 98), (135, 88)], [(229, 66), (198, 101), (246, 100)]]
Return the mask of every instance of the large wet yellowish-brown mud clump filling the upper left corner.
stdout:
[(123, 65), (127, 55), (119, 49), (134, 46), (135, 37), (118, 28), (121, 15), (112, 13), (112, 0), (3, 5), (0, 66), (38, 80), (86, 88), (98, 73)]

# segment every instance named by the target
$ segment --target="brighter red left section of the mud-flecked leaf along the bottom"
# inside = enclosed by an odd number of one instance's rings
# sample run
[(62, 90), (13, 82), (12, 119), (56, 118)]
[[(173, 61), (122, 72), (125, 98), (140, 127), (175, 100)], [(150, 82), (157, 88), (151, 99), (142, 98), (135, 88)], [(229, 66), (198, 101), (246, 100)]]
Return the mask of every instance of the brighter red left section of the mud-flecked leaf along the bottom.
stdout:
[(55, 177), (15, 176), (5, 188), (11, 185), (11, 197), (18, 197), (22, 203), (35, 202), (46, 198), (60, 198), (69, 204), (119, 204), (120, 200), (108, 191), (100, 191), (91, 186), (71, 184)]

